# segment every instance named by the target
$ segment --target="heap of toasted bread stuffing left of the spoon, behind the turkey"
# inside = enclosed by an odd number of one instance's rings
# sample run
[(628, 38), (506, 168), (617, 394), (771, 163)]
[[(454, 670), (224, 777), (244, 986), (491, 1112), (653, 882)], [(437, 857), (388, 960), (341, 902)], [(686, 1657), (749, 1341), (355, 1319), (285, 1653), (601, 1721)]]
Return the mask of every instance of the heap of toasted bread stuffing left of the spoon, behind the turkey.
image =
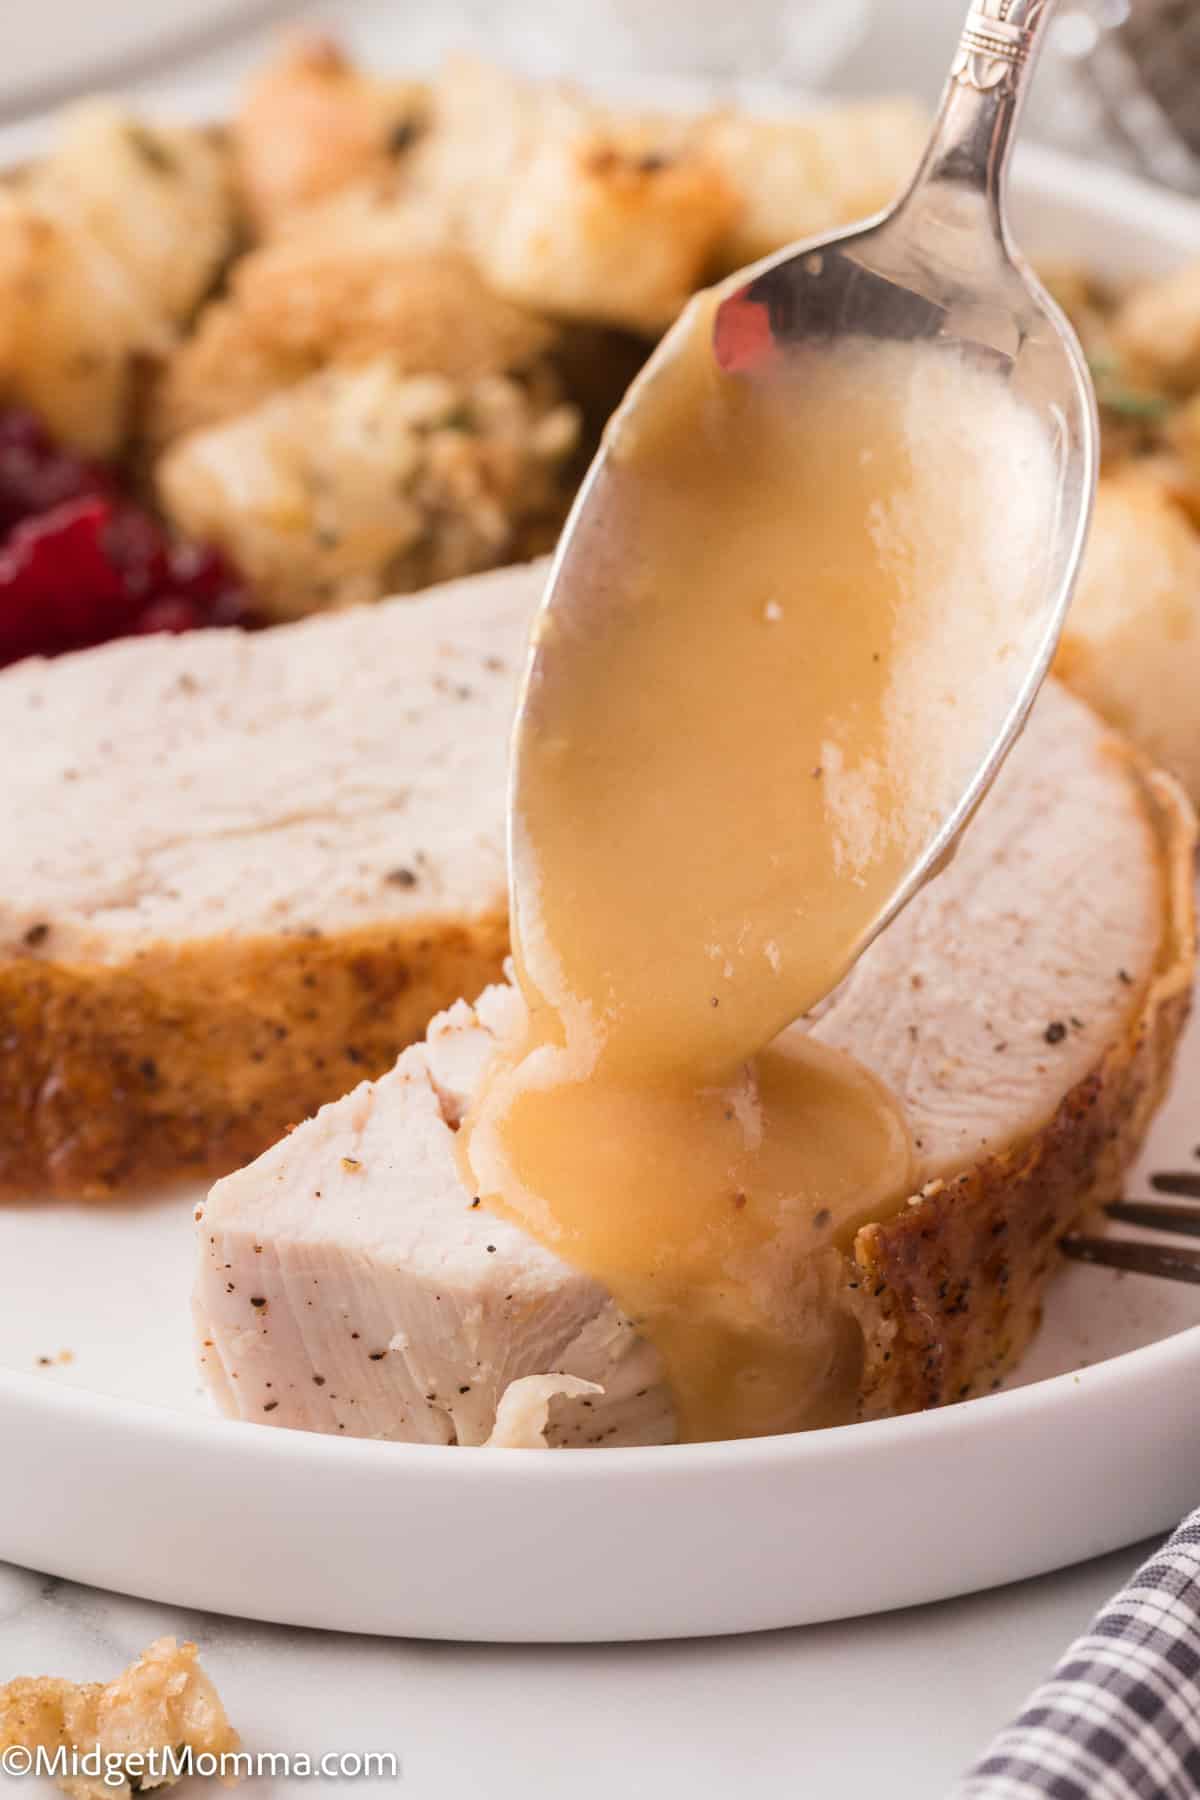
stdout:
[(473, 572), (549, 547), (698, 286), (878, 205), (919, 130), (617, 112), (466, 58), (376, 79), (329, 38), (227, 133), (85, 101), (0, 187), (0, 405), (153, 477), (266, 616)]

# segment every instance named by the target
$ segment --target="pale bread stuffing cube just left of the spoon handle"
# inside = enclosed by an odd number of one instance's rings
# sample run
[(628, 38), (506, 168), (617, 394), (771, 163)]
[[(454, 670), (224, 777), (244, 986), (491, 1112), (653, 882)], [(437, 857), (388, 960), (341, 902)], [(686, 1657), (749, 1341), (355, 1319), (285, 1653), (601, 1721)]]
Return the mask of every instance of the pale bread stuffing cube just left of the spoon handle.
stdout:
[(916, 101), (862, 101), (801, 119), (718, 113), (700, 149), (738, 194), (718, 247), (721, 268), (741, 268), (797, 238), (849, 225), (889, 205), (912, 176), (928, 119)]

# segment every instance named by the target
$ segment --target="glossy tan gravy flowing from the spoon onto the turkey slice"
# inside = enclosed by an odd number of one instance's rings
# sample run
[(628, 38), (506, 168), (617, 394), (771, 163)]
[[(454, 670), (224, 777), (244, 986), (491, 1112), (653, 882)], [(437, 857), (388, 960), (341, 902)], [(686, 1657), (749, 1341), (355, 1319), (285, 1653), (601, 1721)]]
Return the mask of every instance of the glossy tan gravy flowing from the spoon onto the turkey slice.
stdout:
[[(615, 1296), (682, 1438), (853, 1417), (846, 1251), (898, 1096), (795, 1021), (851, 967), (1029, 666), (1052, 448), (1000, 374), (851, 342), (768, 376), (702, 295), (610, 428), (518, 743), (527, 1003), (473, 1192)], [(556, 679), (558, 632), (572, 680)]]

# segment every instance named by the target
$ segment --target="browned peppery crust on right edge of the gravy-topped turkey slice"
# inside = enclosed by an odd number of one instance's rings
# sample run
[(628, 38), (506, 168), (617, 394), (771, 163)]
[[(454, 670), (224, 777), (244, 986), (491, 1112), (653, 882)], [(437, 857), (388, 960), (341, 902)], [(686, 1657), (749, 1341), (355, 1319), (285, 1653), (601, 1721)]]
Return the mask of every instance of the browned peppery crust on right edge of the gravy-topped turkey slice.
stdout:
[(860, 1413), (912, 1413), (1000, 1384), (1042, 1319), (1058, 1238), (1121, 1193), (1171, 1073), (1195, 976), (1195, 817), (1182, 788), (1130, 751), (1162, 850), (1155, 979), (1099, 1064), (1049, 1123), (934, 1181), (853, 1246), (864, 1330)]

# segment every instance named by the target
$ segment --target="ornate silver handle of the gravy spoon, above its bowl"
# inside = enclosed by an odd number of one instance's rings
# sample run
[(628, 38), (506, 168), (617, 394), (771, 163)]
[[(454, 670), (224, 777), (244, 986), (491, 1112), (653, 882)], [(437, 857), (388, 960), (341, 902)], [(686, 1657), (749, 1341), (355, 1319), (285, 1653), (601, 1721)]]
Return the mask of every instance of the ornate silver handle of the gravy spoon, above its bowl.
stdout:
[(1054, 5), (1056, 0), (975, 0), (905, 207), (952, 184), (984, 194), (1002, 229), (1013, 131)]

